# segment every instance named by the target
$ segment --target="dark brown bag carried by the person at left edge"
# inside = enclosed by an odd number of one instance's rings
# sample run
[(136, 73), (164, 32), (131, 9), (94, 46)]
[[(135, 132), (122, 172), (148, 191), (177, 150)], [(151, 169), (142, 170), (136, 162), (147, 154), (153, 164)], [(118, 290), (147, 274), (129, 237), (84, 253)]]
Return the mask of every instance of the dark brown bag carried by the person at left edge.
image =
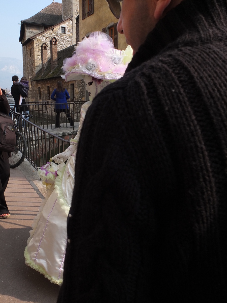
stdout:
[(15, 150), (15, 130), (12, 118), (0, 112), (0, 151), (11, 152)]

